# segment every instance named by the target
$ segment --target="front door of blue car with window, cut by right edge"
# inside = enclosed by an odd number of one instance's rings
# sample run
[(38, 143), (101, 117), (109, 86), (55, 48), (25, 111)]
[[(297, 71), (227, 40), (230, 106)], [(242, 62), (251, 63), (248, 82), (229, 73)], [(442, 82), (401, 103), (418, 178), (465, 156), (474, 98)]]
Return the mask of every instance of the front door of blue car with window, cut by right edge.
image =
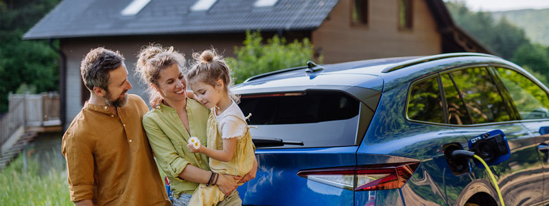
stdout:
[[(542, 86), (531, 80), (519, 70), (495, 67), (498, 80), (505, 88), (513, 108), (518, 113), (522, 124), (530, 133), (528, 138), (535, 139), (541, 164), (533, 170), (544, 172), (544, 203), (549, 202), (549, 93)], [(539, 176), (539, 172), (534, 172)], [(535, 178), (532, 176), (531, 178)], [(539, 178), (537, 178), (539, 179)]]

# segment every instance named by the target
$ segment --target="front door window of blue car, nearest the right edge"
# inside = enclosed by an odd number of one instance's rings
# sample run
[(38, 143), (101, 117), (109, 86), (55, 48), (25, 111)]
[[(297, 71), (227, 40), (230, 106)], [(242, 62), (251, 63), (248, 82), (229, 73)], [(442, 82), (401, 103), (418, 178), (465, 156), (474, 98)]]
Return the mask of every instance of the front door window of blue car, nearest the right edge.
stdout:
[(549, 118), (549, 98), (546, 91), (517, 71), (501, 67), (495, 70), (509, 91), (521, 119)]

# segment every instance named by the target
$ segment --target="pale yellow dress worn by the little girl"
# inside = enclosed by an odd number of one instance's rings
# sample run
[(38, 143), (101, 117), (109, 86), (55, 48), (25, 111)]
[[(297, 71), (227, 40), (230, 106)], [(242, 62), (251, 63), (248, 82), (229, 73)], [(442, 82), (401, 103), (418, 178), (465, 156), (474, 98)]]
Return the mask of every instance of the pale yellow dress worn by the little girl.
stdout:
[[(233, 103), (234, 104), (234, 103)], [(240, 111), (240, 109), (239, 109)], [(242, 113), (242, 111), (240, 111)], [(231, 115), (231, 114), (229, 114)], [(239, 117), (240, 115), (231, 115), (237, 117), (246, 125), (246, 131), (242, 138), (237, 139), (235, 155), (228, 162), (218, 161), (210, 158), (209, 165), (212, 172), (221, 174), (231, 174), (234, 176), (244, 176), (250, 172), (254, 163), (254, 149), (252, 137), (246, 120)], [(219, 122), (215, 117), (215, 111), (211, 111), (208, 118), (207, 127), (208, 144), (207, 147), (214, 150), (223, 150), (223, 139), (220, 130)], [(242, 184), (240, 184), (242, 185)], [(189, 201), (189, 205), (216, 205), (223, 201), (225, 195), (219, 190), (218, 185), (206, 186), (206, 184), (198, 185)]]

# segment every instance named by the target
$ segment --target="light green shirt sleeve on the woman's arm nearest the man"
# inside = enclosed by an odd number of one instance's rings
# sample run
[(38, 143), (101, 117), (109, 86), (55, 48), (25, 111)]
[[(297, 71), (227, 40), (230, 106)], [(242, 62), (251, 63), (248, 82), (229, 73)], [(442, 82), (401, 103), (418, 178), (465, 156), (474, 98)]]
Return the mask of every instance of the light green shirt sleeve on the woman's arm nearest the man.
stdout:
[(145, 128), (152, 152), (164, 173), (179, 181), (185, 181), (179, 178), (179, 174), (185, 170), (189, 161), (178, 155), (170, 138), (152, 117), (148, 115), (143, 117), (143, 128)]

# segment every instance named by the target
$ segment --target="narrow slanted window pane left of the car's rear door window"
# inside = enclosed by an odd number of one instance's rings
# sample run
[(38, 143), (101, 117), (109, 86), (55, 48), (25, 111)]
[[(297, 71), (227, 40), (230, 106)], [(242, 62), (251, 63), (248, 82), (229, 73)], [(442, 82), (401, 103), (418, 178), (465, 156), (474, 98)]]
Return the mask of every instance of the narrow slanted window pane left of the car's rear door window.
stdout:
[(441, 75), (441, 79), (446, 96), (448, 123), (458, 125), (471, 124), (471, 118), (467, 113), (463, 99), (459, 95), (458, 87), (454, 84), (454, 78), (449, 73), (446, 73)]

